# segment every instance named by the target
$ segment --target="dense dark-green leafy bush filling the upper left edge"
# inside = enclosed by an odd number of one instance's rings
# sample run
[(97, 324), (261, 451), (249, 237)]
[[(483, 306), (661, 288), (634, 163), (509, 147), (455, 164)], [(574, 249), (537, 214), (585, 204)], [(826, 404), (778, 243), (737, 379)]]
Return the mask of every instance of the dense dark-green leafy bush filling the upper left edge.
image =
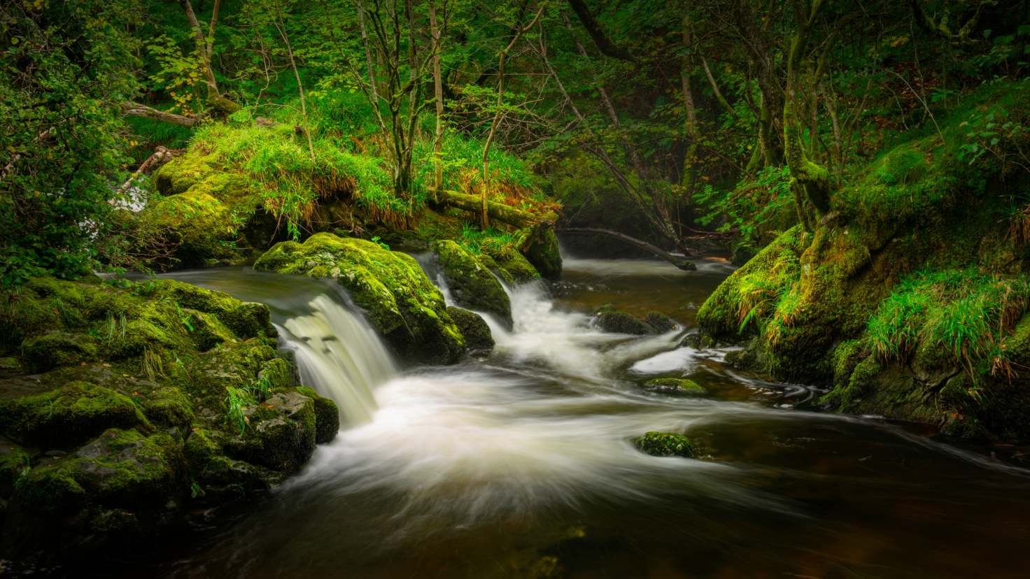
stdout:
[(135, 91), (134, 0), (0, 8), (0, 286), (95, 265), (123, 163), (118, 103)]

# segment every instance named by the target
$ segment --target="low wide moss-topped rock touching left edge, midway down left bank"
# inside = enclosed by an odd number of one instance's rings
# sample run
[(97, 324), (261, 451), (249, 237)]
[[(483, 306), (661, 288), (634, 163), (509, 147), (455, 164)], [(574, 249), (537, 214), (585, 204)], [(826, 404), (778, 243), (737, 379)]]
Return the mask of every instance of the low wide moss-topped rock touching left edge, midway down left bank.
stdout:
[(111, 427), (152, 430), (129, 397), (90, 382), (0, 401), (0, 431), (29, 446), (72, 448)]

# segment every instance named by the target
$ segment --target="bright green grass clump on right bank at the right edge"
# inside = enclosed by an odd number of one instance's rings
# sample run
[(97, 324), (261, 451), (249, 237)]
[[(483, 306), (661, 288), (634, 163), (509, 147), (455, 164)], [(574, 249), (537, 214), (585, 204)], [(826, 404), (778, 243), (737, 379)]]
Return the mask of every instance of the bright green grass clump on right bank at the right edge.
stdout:
[(1012, 375), (1003, 338), (1030, 303), (1030, 279), (975, 269), (922, 271), (903, 278), (868, 321), (882, 360), (954, 363), (976, 381)]

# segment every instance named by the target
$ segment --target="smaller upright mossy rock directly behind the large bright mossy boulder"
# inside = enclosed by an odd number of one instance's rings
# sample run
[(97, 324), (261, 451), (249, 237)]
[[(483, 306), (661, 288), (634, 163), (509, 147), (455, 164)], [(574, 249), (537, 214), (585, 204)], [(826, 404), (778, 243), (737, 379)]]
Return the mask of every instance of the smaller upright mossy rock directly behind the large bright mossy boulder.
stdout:
[(493, 315), (511, 328), (511, 300), (497, 278), (476, 256), (449, 239), (436, 242), (433, 252), (459, 306)]

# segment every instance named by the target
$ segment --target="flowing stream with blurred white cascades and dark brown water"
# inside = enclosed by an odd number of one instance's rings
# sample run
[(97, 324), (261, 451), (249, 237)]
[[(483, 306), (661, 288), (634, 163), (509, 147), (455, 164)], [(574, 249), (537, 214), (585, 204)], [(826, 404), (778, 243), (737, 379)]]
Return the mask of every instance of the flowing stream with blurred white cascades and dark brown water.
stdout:
[[(174, 277), (269, 304), (304, 382), (344, 425), (255, 512), (147, 568), (193, 577), (1023, 577), (1030, 472), (874, 417), (794, 409), (819, 393), (681, 346), (731, 271), (565, 261), (508, 288), (493, 353), (402, 368), (338, 286), (226, 268)], [(683, 325), (608, 334), (611, 303)], [(649, 394), (685, 376), (706, 397)], [(638, 452), (684, 432), (697, 459)], [(1004, 452), (1007, 462), (993, 457)]]

